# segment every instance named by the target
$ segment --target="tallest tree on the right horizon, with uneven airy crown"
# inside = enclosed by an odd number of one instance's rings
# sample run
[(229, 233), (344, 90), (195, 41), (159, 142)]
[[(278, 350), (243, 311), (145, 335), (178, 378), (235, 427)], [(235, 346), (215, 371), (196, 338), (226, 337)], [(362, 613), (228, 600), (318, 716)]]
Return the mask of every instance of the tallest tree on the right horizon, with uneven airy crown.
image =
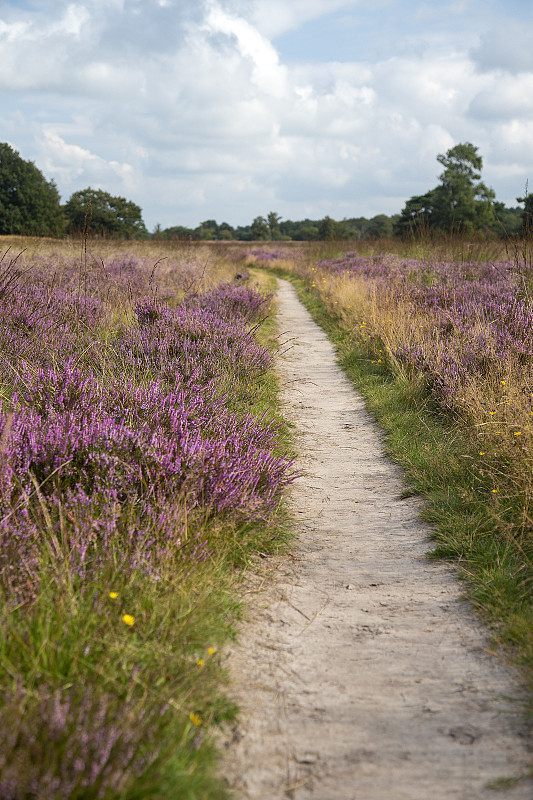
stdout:
[(470, 234), (491, 229), (495, 194), (480, 180), (483, 159), (478, 148), (463, 142), (439, 154), (437, 161), (444, 167), (440, 185), (407, 201), (397, 232), (429, 227)]

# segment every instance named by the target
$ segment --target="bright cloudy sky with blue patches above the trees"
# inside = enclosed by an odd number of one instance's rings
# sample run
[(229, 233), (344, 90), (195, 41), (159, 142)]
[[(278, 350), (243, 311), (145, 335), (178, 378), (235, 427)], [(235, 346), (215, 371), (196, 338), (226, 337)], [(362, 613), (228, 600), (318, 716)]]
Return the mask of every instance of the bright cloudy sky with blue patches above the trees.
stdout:
[(399, 212), (470, 141), (533, 182), (532, 0), (0, 0), (0, 141), (147, 226)]

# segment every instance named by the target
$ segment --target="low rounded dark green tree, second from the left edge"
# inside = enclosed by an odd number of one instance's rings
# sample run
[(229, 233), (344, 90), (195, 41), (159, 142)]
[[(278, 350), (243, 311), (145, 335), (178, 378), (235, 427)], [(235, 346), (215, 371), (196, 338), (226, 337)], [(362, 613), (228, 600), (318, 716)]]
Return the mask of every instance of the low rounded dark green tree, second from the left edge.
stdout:
[(138, 239), (148, 235), (139, 206), (102, 189), (74, 192), (65, 205), (69, 233)]

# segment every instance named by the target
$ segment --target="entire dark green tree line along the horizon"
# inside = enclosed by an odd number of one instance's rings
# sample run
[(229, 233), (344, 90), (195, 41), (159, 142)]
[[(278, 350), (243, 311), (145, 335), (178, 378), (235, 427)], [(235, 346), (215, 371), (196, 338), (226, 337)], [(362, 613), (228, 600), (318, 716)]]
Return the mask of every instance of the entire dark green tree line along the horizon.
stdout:
[[(275, 211), (249, 224), (205, 220), (195, 228), (157, 225), (149, 233), (141, 208), (124, 197), (88, 187), (61, 204), (53, 180), (10, 145), (0, 143), (0, 235), (99, 236), (106, 238), (193, 239), (219, 241), (323, 241), (413, 236), (427, 231), (484, 234), (521, 233), (533, 218), (533, 196), (517, 198), (520, 207), (506, 207), (481, 180), (478, 148), (464, 142), (439, 154), (439, 184), (411, 197), (401, 213), (334, 220), (283, 220)], [(530, 226), (529, 226), (530, 227)]]

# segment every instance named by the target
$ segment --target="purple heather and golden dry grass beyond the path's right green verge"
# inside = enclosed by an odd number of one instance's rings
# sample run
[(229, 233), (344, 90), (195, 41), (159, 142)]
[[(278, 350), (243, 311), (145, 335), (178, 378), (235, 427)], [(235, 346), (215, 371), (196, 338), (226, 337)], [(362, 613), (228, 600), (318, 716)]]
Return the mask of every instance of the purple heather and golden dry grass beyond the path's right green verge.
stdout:
[[(482, 508), (472, 516), (475, 534), (478, 525), (520, 541), (529, 570), (533, 306), (527, 264), (349, 253), (304, 274), (365, 354), (364, 369), (393, 372), (415, 413), (429, 407), (441, 418), (444, 412), (446, 428), (450, 421), (458, 426), (467, 451), (459, 463), (470, 482), (463, 500)], [(416, 464), (406, 463), (417, 480)]]

